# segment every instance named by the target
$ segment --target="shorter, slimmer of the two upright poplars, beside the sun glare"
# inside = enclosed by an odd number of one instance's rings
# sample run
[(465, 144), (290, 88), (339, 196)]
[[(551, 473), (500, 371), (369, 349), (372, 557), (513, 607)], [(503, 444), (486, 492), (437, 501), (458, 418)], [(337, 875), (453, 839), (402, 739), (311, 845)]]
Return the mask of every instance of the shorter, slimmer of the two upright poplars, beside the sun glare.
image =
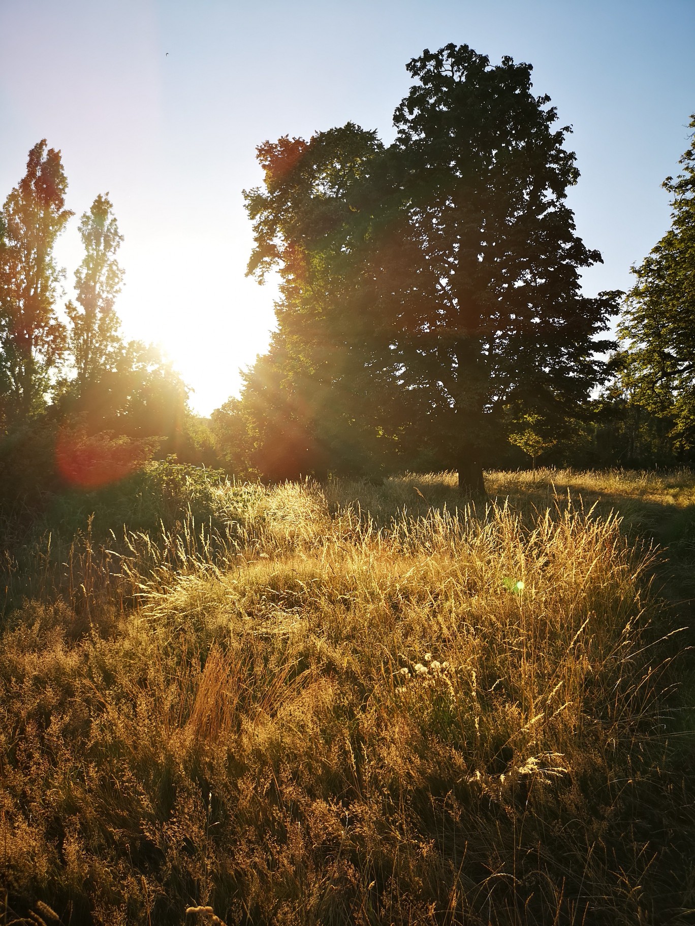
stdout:
[(104, 369), (114, 367), (120, 347), (120, 319), (114, 303), (123, 280), (116, 259), (123, 237), (112, 209), (108, 194), (98, 195), (80, 222), (84, 257), (75, 271), (78, 305), (69, 303), (66, 307), (71, 322), (69, 349), (79, 389)]

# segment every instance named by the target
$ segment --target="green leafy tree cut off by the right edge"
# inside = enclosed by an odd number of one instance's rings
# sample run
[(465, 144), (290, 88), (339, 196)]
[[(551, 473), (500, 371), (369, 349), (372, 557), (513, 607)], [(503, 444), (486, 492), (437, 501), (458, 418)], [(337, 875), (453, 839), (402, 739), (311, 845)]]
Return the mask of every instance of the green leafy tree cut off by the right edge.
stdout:
[[(695, 130), (695, 115), (690, 120)], [(680, 158), (672, 195), (672, 224), (651, 254), (632, 272), (617, 358), (633, 403), (673, 423), (680, 449), (695, 447), (695, 147)]]

